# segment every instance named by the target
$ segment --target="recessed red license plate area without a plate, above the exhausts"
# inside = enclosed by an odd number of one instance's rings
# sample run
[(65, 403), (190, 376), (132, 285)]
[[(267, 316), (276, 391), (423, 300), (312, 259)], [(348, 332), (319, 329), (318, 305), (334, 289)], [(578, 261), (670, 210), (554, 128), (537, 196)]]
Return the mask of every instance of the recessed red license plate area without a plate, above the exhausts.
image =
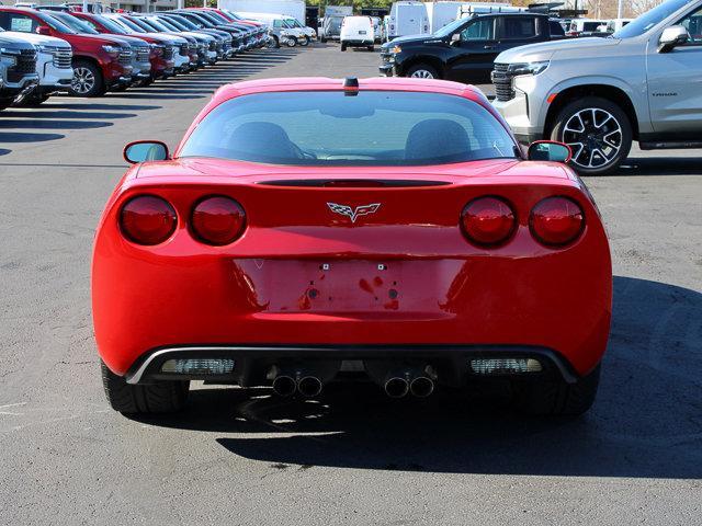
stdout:
[(463, 260), (235, 260), (268, 312), (439, 312), (467, 276)]

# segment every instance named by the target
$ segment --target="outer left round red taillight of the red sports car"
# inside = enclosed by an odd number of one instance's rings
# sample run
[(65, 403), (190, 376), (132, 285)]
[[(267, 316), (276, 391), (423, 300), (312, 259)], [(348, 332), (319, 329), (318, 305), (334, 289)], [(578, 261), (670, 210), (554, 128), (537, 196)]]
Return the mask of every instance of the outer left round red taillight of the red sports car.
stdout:
[(173, 207), (161, 197), (140, 195), (129, 199), (120, 213), (120, 228), (129, 241), (158, 244), (171, 237), (178, 218)]

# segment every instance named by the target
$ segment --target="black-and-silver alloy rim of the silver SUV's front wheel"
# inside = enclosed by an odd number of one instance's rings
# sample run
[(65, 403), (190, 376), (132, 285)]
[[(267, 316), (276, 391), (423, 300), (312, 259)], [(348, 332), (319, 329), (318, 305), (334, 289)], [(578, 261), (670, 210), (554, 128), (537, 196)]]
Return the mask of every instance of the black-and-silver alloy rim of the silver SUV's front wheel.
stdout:
[(573, 163), (601, 168), (614, 162), (622, 149), (622, 125), (610, 112), (588, 107), (568, 118), (563, 141), (573, 150)]

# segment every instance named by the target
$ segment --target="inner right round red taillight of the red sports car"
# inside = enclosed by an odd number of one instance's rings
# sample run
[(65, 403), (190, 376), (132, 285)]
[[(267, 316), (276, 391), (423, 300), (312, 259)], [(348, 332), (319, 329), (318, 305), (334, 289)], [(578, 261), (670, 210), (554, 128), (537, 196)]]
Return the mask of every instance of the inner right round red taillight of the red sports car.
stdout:
[(497, 245), (507, 241), (517, 227), (514, 213), (499, 197), (478, 197), (468, 203), (461, 215), (463, 233), (482, 245)]

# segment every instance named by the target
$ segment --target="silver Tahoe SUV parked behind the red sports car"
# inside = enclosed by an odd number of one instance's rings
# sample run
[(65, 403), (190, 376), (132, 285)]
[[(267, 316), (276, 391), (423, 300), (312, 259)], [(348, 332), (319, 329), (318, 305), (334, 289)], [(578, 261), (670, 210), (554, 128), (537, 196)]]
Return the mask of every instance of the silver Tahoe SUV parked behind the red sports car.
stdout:
[(573, 149), (582, 174), (642, 149), (702, 148), (702, 0), (668, 0), (608, 38), (547, 42), (495, 60), (495, 106), (523, 142)]

